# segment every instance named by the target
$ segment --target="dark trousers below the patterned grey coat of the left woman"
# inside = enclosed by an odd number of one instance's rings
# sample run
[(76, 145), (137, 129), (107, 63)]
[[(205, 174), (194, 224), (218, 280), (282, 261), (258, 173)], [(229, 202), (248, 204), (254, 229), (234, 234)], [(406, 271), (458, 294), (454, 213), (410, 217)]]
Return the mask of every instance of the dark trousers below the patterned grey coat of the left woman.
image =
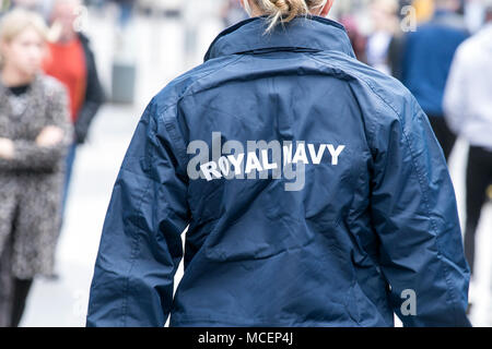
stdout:
[(0, 256), (0, 327), (17, 327), (24, 313), (33, 279), (12, 275), (13, 237), (5, 242)]

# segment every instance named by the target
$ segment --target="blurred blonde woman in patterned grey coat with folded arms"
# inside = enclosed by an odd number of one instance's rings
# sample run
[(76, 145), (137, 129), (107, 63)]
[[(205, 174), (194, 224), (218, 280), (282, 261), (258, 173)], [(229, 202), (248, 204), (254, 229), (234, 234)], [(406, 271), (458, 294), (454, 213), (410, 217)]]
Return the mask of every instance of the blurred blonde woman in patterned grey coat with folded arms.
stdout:
[(40, 73), (46, 27), (14, 10), (0, 26), (0, 326), (17, 326), (36, 275), (52, 274), (68, 97)]

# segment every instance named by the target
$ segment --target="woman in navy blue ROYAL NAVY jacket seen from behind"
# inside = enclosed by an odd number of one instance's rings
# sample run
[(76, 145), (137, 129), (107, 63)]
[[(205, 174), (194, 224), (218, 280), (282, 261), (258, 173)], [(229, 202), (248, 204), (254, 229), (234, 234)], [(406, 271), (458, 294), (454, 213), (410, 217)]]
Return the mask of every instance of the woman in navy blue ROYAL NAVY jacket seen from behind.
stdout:
[[(455, 193), (429, 120), (361, 62), (332, 0), (245, 0), (147, 107), (89, 326), (469, 326)], [(184, 276), (174, 291), (183, 257)]]

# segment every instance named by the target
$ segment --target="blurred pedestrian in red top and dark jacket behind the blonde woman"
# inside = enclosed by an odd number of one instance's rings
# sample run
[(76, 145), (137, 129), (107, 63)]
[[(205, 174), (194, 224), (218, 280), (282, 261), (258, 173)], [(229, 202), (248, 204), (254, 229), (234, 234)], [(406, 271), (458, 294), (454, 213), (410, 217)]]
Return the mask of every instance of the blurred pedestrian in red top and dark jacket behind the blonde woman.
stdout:
[(55, 38), (48, 44), (44, 70), (62, 82), (69, 92), (70, 117), (74, 125), (74, 140), (67, 157), (62, 213), (75, 160), (77, 147), (83, 144), (94, 117), (104, 100), (94, 53), (89, 38), (75, 27), (80, 0), (55, 0), (50, 24)]

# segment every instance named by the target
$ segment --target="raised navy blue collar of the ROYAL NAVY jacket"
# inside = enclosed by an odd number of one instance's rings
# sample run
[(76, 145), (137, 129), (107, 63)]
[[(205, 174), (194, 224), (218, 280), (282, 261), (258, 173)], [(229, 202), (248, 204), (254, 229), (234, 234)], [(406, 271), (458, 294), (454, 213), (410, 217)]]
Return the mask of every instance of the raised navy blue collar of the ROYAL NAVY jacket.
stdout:
[(221, 56), (259, 50), (337, 50), (355, 57), (344, 27), (331, 20), (297, 16), (265, 34), (267, 15), (250, 17), (224, 29), (210, 45), (204, 61)]

